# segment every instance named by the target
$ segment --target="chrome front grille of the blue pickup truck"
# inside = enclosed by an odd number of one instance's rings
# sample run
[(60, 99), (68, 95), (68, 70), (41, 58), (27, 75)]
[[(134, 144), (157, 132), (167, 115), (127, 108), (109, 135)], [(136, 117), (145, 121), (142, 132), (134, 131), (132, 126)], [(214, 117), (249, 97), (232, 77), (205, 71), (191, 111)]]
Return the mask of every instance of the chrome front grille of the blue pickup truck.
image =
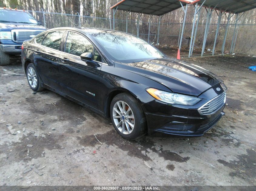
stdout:
[(23, 43), (24, 40), (29, 40), (31, 35), (38, 35), (44, 30), (31, 30), (31, 29), (15, 29), (12, 30), (12, 40), (16, 43)]

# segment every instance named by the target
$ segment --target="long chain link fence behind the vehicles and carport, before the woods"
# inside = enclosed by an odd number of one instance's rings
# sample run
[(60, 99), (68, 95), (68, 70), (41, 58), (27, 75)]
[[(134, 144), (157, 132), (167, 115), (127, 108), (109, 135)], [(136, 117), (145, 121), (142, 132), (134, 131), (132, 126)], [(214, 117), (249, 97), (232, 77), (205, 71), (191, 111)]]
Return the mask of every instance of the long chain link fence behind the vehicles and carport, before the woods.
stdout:
[[(81, 16), (77, 14), (61, 14), (40, 11), (28, 11), (46, 28), (55, 27), (96, 27), (113, 29), (113, 19), (110, 18), (97, 18), (90, 16)], [(126, 21), (115, 19), (115, 30), (128, 32), (137, 35), (137, 26), (139, 24), (139, 37), (148, 41), (151, 44), (157, 43), (158, 36), (158, 23), (150, 23), (142, 21)], [(215, 50), (219, 52), (222, 47), (226, 24), (220, 24), (218, 39), (216, 42)], [(205, 46), (207, 49), (213, 49), (214, 38), (217, 24), (210, 24), (208, 37)], [(159, 44), (166, 46), (178, 46), (181, 36), (182, 23), (160, 23), (159, 31)], [(189, 37), (191, 36), (192, 23), (186, 23), (184, 35), (182, 39), (182, 47), (187, 48), (189, 44)], [(200, 49), (204, 39), (205, 24), (198, 24), (198, 30), (195, 40), (195, 49)], [(234, 24), (228, 26), (228, 35), (225, 44), (225, 50), (230, 51), (231, 41), (234, 32)], [(238, 24), (237, 38), (235, 52), (242, 53), (255, 53), (256, 52), (256, 25), (254, 24)], [(244, 35), (246, 34), (246, 35)], [(149, 38), (148, 38), (149, 36)], [(248, 38), (250, 37), (250, 38)], [(242, 40), (241, 40), (242, 39)]]

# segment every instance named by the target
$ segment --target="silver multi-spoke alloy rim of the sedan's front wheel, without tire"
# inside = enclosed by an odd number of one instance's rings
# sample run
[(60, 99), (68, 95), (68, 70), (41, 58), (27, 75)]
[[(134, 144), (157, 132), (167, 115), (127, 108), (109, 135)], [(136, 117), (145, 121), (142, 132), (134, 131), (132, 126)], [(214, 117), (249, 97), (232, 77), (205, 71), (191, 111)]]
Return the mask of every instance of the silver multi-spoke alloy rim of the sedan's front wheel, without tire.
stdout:
[(124, 101), (117, 101), (113, 107), (113, 120), (117, 129), (129, 135), (134, 129), (135, 121), (131, 107)]

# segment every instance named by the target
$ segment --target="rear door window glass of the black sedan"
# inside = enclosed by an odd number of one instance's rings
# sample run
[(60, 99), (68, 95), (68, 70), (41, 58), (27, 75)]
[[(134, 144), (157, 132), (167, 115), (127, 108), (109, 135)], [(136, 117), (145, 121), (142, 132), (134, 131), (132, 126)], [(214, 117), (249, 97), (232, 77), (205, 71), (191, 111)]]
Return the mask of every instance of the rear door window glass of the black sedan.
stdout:
[(55, 50), (59, 50), (64, 32), (65, 31), (49, 32), (43, 40), (42, 45)]

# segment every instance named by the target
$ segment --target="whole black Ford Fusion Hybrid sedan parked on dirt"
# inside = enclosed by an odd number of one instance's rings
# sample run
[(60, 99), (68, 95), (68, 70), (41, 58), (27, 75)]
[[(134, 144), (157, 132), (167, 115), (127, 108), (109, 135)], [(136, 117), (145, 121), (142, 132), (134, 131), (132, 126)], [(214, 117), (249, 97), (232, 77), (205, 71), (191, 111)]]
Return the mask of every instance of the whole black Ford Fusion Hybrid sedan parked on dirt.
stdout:
[(131, 34), (55, 28), (22, 45), (33, 91), (52, 90), (105, 117), (129, 140), (153, 132), (200, 136), (221, 116), (226, 86)]

